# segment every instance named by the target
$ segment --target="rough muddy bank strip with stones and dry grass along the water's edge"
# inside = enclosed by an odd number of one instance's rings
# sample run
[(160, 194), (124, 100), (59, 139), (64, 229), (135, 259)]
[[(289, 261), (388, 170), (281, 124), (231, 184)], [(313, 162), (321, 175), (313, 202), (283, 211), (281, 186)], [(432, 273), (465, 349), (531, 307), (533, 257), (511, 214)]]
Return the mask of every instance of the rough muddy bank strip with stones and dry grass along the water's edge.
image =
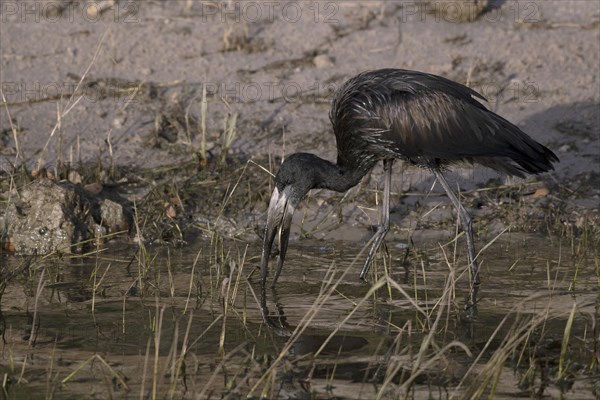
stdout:
[[(73, 168), (51, 178), (46, 170), (43, 177), (6, 174), (2, 188), (7, 209), (0, 219), (3, 248), (17, 254), (85, 252), (96, 241), (114, 239), (180, 247), (215, 234), (260, 241), (272, 191), (267, 168), (271, 165), (275, 172), (277, 162), (198, 159), (162, 169), (122, 169), (113, 171), (112, 178), (109, 170), (96, 166), (81, 170), (103, 171), (101, 179), (96, 174), (77, 175), (77, 184), (68, 179)], [(462, 191), (461, 197), (481, 241), (505, 232), (598, 241), (600, 217), (590, 193), (598, 187), (599, 176), (585, 173), (567, 184), (539, 178), (513, 184), (490, 181)], [(433, 179), (424, 182), (432, 185)], [(376, 188), (376, 179), (368, 176), (344, 194), (311, 192), (294, 215), (292, 240), (366, 243), (379, 223)], [(389, 241), (406, 244), (455, 235), (456, 213), (441, 189), (398, 187), (392, 204)]]

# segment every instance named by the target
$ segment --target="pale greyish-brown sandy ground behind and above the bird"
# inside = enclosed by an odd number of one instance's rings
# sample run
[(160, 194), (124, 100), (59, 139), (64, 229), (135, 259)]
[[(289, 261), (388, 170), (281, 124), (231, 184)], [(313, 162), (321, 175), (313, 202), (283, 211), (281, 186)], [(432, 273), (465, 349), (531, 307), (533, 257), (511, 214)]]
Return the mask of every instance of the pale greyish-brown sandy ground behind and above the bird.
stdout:
[[(600, 2), (492, 4), (460, 22), (471, 8), (450, 1), (2, 0), (0, 164), (18, 162), (15, 135), (32, 169), (189, 159), (200, 148), (203, 88), (209, 150), (237, 115), (230, 151), (242, 159), (297, 150), (335, 159), (333, 91), (360, 71), (398, 67), (481, 92), (557, 153), (552, 177), (585, 177), (597, 207)], [(164, 139), (161, 118), (185, 129)], [(403, 189), (431, 184), (429, 174), (412, 174)], [(494, 176), (462, 174), (463, 187)]]

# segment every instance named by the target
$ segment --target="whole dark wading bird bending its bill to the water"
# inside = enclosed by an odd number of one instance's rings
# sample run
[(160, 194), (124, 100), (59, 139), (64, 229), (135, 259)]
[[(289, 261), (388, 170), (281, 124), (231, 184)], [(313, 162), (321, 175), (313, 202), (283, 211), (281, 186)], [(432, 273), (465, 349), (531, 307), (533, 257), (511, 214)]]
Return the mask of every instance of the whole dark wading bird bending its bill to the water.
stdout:
[(286, 158), (277, 175), (265, 228), (261, 260), (262, 304), (273, 241), (279, 233), (279, 262), (271, 287), (281, 273), (292, 214), (311, 189), (344, 192), (383, 161), (381, 225), (360, 272), (364, 280), (373, 256), (389, 230), (392, 164), (401, 159), (433, 172), (456, 207), (467, 237), (471, 291), (466, 309), (476, 315), (479, 273), (472, 220), (444, 178), (456, 163), (478, 163), (524, 177), (553, 170), (558, 157), (517, 126), (485, 108), (485, 98), (466, 86), (423, 72), (380, 69), (348, 80), (337, 92), (329, 118), (337, 142), (337, 164), (313, 154)]

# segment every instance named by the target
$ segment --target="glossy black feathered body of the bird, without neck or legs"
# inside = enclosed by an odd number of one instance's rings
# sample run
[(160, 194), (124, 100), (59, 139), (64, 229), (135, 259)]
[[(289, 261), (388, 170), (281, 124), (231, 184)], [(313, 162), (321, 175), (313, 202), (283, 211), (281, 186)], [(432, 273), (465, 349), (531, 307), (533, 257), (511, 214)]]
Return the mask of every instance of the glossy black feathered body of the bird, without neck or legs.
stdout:
[(477, 98), (484, 99), (422, 72), (359, 74), (340, 88), (331, 108), (338, 165), (369, 168), (385, 158), (429, 168), (469, 162), (520, 177), (553, 169), (552, 151)]

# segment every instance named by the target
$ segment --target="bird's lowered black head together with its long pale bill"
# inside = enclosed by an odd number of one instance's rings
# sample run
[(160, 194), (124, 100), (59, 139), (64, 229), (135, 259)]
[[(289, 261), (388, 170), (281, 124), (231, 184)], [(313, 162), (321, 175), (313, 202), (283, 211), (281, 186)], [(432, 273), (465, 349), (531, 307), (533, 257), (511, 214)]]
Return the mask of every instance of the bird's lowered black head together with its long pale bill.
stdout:
[(329, 161), (308, 153), (292, 154), (281, 164), (275, 176), (275, 188), (267, 211), (261, 259), (263, 284), (268, 273), (269, 255), (275, 235), (279, 237), (279, 261), (273, 284), (283, 266), (296, 207), (309, 190), (325, 187), (323, 184), (327, 180), (327, 174), (335, 173), (335, 170), (335, 166)]

